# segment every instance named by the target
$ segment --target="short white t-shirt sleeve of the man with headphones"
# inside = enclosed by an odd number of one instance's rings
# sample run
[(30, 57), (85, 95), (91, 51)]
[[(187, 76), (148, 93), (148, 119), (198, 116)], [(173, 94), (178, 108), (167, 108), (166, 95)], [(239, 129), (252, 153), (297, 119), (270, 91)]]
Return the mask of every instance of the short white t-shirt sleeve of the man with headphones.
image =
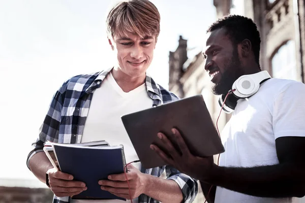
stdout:
[(275, 97), (273, 132), (280, 137), (305, 137), (305, 84), (292, 82)]

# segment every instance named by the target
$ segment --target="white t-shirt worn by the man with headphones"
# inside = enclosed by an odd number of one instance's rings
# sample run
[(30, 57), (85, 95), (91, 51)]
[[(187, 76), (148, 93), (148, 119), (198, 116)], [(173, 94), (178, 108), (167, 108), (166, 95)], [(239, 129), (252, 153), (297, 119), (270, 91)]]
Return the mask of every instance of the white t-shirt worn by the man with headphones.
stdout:
[[(230, 121), (222, 131), (225, 152), (220, 166), (253, 167), (278, 164), (275, 140), (305, 137), (305, 85), (269, 79), (248, 99), (239, 99)], [(263, 198), (217, 187), (216, 203), (292, 202), (292, 198)]]

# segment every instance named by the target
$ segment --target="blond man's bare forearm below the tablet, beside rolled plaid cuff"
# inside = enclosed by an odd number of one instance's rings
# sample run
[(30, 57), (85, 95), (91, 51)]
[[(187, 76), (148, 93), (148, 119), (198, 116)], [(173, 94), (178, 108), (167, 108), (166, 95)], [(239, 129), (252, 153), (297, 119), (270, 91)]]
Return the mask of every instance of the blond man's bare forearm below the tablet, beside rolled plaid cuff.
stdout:
[(164, 203), (182, 202), (183, 195), (179, 185), (175, 181), (147, 174), (145, 176), (147, 187), (144, 194)]

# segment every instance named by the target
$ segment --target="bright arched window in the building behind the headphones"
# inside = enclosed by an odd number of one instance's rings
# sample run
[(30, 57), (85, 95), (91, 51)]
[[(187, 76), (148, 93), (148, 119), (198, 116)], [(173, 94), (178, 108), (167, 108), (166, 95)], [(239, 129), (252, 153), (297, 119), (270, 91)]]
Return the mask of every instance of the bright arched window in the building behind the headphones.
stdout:
[(272, 75), (274, 78), (297, 80), (295, 43), (289, 40), (272, 57)]

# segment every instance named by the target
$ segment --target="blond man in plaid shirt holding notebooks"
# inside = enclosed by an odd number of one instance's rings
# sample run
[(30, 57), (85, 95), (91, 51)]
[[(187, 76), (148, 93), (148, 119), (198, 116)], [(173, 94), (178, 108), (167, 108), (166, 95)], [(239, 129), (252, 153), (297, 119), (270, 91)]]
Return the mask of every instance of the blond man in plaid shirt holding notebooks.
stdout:
[[(53, 191), (53, 202), (121, 200), (72, 199), (71, 196), (87, 189), (85, 183), (53, 168), (42, 151), (47, 140), (58, 143), (106, 140), (111, 145), (123, 144), (126, 160), (131, 162), (138, 157), (120, 116), (178, 99), (146, 75), (160, 32), (160, 14), (155, 5), (147, 0), (120, 2), (109, 12), (106, 26), (109, 45), (117, 58), (115, 64), (102, 72), (72, 77), (57, 90), (27, 158), (29, 169)], [(133, 202), (192, 202), (197, 194), (196, 181), (175, 168), (144, 169), (135, 163), (128, 169)], [(160, 178), (165, 170), (166, 179)], [(130, 199), (124, 174), (97, 182), (101, 190)]]

